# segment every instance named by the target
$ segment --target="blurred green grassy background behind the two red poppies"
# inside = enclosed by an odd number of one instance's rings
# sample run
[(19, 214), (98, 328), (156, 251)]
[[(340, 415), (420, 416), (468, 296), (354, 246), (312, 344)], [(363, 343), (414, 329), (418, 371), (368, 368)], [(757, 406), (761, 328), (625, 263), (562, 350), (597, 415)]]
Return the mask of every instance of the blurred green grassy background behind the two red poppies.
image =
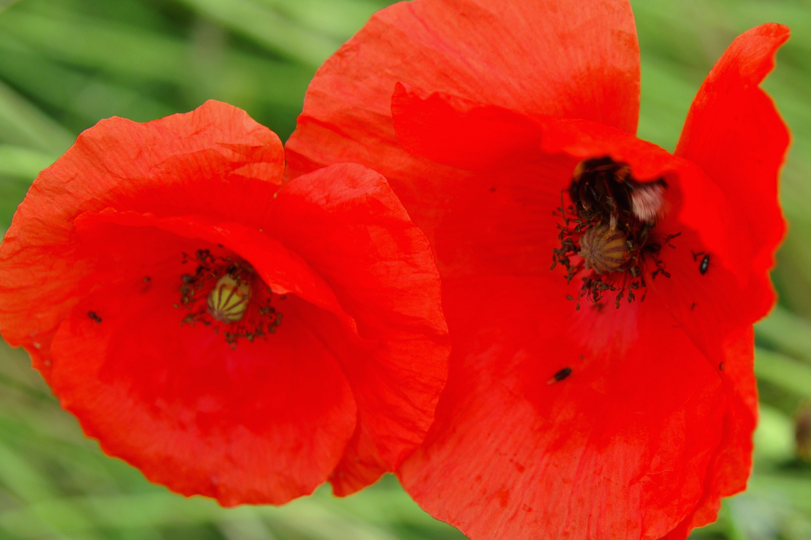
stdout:
[[(0, 0), (0, 232), (36, 173), (100, 118), (148, 121), (215, 98), (285, 139), (315, 68), (388, 3)], [(766, 21), (792, 27), (765, 84), (794, 145), (782, 191), (791, 232), (774, 273), (780, 304), (757, 325), (755, 470), (749, 490), (725, 501), (719, 521), (693, 538), (811, 540), (811, 465), (798, 457), (795, 437), (811, 400), (811, 0), (633, 6), (642, 45), (639, 134), (670, 150), (702, 79), (735, 36)], [(283, 508), (226, 510), (173, 495), (101, 454), (27, 356), (0, 343), (0, 538), (464, 537), (419, 510), (390, 476), (346, 499), (322, 488)]]

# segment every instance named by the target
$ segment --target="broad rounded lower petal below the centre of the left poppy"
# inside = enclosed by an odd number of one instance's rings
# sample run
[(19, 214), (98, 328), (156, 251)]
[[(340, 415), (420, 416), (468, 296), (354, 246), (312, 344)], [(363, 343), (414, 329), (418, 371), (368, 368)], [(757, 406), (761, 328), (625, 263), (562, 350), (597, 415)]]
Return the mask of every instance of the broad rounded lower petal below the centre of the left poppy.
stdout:
[(232, 350), (208, 326), (180, 325), (185, 312), (172, 304), (188, 271), (179, 254), (216, 244), (112, 227), (127, 240), (119, 253), (85, 246), (128, 268), (143, 257), (159, 264), (143, 269), (146, 284), (101, 284), (62, 321), (50, 372), (62, 406), (105, 453), (183, 495), (231, 506), (311, 493), (341, 459), (356, 414), (324, 325), (314, 324), (320, 309), (277, 301), (283, 329)]

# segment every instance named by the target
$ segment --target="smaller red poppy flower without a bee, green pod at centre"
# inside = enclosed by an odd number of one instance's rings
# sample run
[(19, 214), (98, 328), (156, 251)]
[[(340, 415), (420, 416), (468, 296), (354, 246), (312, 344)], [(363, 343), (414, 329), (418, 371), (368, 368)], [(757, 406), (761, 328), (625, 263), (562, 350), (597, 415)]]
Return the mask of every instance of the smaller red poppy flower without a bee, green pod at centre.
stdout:
[(0, 328), (106, 453), (221, 504), (363, 486), (423, 440), (447, 372), (427, 239), (380, 174), (280, 188), (238, 108), (84, 132), (0, 247)]

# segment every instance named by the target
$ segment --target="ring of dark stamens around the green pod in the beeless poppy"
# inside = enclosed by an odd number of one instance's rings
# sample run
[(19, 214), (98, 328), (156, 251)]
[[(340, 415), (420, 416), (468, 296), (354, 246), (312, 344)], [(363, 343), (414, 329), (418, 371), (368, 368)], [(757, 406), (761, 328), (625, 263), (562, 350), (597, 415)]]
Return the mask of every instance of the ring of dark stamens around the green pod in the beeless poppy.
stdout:
[[(191, 274), (182, 274), (180, 280), (180, 303), (174, 304), (176, 308), (184, 308), (189, 312), (180, 322), (181, 325), (195, 325), (200, 322), (213, 327), (216, 334), (222, 332), (225, 342), (236, 348), (236, 342), (245, 338), (253, 342), (255, 338), (272, 334), (281, 323), (281, 313), (270, 305), (272, 291), (265, 285), (256, 271), (247, 262), (234, 257), (221, 257), (214, 255), (208, 249), (198, 249), (194, 257), (183, 253), (182, 263), (194, 263), (195, 271)], [(233, 287), (247, 286), (253, 294), (249, 297), (248, 307), (244, 316), (234, 321), (223, 321), (212, 313), (209, 296), (218, 283), (227, 276)], [(260, 285), (260, 287), (255, 287)]]

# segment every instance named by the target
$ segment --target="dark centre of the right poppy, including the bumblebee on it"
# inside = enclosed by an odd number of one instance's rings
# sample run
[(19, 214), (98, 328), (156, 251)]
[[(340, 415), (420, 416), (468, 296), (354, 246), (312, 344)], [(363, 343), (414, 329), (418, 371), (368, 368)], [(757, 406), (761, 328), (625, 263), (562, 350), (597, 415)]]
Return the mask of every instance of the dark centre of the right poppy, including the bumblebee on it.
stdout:
[(584, 274), (577, 309), (582, 298), (602, 306), (603, 297), (615, 292), (617, 308), (624, 298), (633, 302), (640, 290), (644, 300), (646, 274), (670, 277), (659, 252), (680, 233), (662, 236), (655, 231), (667, 210), (666, 190), (663, 178), (636, 181), (628, 165), (611, 158), (577, 164), (568, 189), (571, 204), (564, 205), (564, 190), (555, 212), (563, 223), (558, 224), (560, 248), (552, 250), (551, 266), (564, 266), (567, 281)]

